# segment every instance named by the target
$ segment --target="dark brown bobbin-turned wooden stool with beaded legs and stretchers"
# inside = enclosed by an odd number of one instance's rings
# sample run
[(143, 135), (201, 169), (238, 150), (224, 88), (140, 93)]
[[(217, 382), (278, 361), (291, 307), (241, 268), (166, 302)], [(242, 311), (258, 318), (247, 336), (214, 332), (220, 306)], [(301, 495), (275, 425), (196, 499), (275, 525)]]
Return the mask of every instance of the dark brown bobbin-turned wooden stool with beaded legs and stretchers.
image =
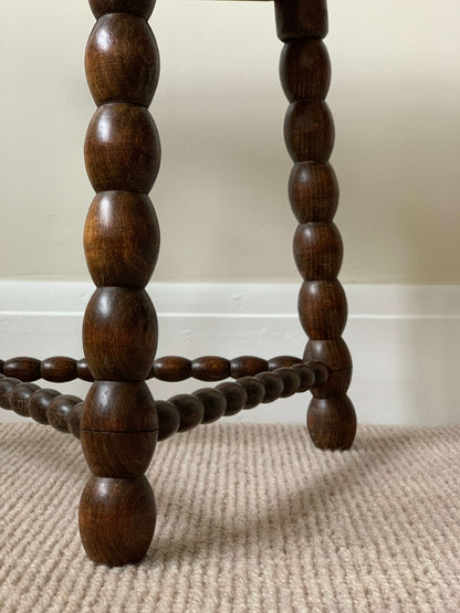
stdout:
[[(356, 416), (346, 395), (352, 359), (342, 339), (347, 304), (337, 274), (343, 247), (333, 222), (338, 187), (328, 159), (334, 124), (324, 102), (331, 66), (322, 39), (325, 0), (275, 0), (280, 73), (289, 108), (285, 142), (294, 167), (289, 182), (299, 221), (294, 257), (303, 284), (299, 315), (310, 340), (303, 358), (155, 360), (158, 326), (145, 287), (159, 250), (148, 198), (160, 144), (148, 112), (159, 55), (147, 24), (155, 0), (90, 0), (97, 21), (86, 47), (86, 75), (97, 105), (85, 161), (96, 195), (84, 246), (96, 285), (83, 324), (85, 360), (12, 358), (2, 362), (0, 404), (81, 438), (93, 475), (80, 504), (80, 530), (90, 558), (108, 566), (140, 560), (155, 530), (156, 507), (144, 476), (157, 441), (222, 415), (311, 390), (307, 426), (324, 450), (348, 448)], [(220, 381), (192, 394), (155, 402), (146, 379)], [(94, 381), (83, 401), (40, 389), (38, 379)]]

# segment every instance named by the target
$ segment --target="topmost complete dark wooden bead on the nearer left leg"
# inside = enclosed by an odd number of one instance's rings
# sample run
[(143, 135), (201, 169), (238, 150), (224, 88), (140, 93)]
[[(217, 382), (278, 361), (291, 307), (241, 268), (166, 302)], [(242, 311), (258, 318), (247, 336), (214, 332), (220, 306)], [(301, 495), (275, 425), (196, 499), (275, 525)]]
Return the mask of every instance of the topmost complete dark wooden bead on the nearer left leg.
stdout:
[(87, 42), (85, 68), (97, 106), (127, 102), (148, 107), (158, 83), (159, 54), (145, 19), (128, 13), (101, 17)]

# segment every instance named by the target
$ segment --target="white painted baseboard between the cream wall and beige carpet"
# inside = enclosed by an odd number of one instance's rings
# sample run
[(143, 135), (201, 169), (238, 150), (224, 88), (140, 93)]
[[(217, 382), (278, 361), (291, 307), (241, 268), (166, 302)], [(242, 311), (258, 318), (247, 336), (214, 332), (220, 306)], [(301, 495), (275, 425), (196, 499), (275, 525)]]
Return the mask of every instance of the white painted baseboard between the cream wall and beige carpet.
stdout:
[[(159, 355), (189, 358), (301, 356), (300, 285), (151, 284)], [(82, 357), (81, 324), (91, 283), (0, 282), (0, 358)], [(366, 423), (460, 423), (460, 286), (346, 285), (344, 335), (354, 359), (349, 395)], [(41, 384), (53, 387), (51, 383)], [(203, 384), (206, 385), (206, 384)], [(200, 382), (151, 384), (157, 398)], [(61, 388), (60, 388), (61, 389)], [(65, 391), (84, 395), (87, 384)], [(245, 411), (233, 420), (304, 422), (309, 394)], [(19, 421), (0, 411), (0, 421)]]

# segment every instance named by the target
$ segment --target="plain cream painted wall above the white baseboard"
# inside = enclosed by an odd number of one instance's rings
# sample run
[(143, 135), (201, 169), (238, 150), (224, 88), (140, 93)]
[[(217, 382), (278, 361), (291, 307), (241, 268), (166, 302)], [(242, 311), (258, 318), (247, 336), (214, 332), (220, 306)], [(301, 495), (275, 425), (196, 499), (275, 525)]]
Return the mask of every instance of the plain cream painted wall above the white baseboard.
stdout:
[[(85, 0), (1, 0), (0, 277), (87, 278)], [(296, 282), (270, 2), (158, 0), (155, 278)], [(460, 3), (330, 0), (342, 278), (460, 283)]]

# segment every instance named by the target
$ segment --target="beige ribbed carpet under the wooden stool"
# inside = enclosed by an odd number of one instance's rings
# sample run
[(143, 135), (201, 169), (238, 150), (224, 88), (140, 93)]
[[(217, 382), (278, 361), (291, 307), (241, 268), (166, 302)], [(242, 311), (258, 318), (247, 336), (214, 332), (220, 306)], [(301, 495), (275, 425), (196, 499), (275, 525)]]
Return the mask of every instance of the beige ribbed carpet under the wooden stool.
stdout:
[(0, 436), (2, 612), (460, 611), (460, 426), (360, 426), (346, 453), (302, 426), (176, 435), (149, 472), (149, 554), (124, 569), (80, 545), (77, 441)]

